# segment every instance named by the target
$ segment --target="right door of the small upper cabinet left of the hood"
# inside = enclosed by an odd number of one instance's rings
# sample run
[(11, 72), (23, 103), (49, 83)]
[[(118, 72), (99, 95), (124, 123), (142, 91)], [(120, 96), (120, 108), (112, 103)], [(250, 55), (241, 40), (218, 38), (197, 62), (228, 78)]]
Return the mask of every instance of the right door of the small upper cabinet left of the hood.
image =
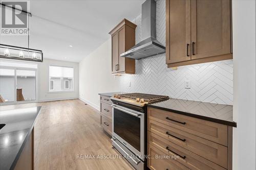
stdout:
[(125, 52), (125, 29), (118, 30), (118, 66), (117, 72), (125, 71), (125, 58), (120, 55)]

